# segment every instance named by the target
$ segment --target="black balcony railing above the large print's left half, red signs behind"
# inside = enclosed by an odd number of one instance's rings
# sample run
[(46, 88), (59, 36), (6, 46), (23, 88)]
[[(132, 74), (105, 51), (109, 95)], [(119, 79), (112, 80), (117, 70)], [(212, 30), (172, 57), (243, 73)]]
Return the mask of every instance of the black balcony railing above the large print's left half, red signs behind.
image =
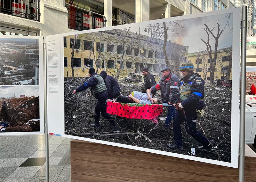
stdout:
[(88, 30), (106, 26), (105, 16), (90, 10), (66, 3), (68, 10), (68, 28), (75, 30)]

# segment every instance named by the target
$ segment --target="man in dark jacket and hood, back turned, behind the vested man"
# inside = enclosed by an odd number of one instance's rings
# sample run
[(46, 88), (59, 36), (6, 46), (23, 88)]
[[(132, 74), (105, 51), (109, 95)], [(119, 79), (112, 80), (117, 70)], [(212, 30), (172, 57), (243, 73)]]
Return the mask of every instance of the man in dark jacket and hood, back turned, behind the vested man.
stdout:
[(117, 96), (119, 96), (121, 93), (121, 87), (118, 84), (116, 78), (107, 75), (106, 71), (101, 71), (100, 76), (103, 78), (107, 87), (108, 98), (117, 98)]

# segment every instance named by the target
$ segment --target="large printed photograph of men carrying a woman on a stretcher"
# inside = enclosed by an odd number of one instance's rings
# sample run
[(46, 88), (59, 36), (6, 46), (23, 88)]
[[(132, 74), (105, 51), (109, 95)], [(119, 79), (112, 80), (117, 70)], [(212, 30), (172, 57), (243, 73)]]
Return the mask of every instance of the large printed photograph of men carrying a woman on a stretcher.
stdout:
[(230, 163), (232, 40), (232, 13), (64, 36), (65, 134)]

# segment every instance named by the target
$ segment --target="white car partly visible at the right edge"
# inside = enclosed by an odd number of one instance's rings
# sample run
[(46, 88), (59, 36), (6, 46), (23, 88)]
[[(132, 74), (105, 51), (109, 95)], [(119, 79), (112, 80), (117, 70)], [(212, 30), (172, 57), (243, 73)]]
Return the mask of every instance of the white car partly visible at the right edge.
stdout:
[(245, 143), (256, 149), (256, 104), (245, 104)]

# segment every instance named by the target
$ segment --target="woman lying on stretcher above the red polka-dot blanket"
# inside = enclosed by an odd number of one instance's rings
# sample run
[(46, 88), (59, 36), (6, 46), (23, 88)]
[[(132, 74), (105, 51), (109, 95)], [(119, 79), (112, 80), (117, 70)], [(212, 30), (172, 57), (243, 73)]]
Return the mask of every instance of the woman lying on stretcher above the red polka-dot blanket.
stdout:
[[(111, 101), (111, 100), (107, 100)], [(147, 93), (142, 93), (139, 91), (133, 91), (128, 96), (120, 95), (116, 99), (112, 100), (112, 102), (121, 102), (121, 103), (140, 103), (140, 104), (162, 104), (162, 101), (159, 98), (151, 98), (148, 99)]]

